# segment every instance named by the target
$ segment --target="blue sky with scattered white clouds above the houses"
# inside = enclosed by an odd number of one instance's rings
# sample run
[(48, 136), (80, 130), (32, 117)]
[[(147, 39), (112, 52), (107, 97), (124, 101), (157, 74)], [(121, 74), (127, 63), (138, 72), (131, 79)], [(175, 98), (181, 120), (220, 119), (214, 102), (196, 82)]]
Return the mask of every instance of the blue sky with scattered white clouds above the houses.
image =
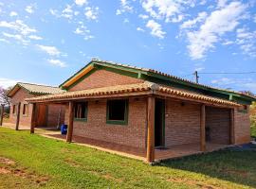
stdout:
[(0, 0), (0, 57), (5, 88), (97, 58), (256, 93), (256, 0)]

